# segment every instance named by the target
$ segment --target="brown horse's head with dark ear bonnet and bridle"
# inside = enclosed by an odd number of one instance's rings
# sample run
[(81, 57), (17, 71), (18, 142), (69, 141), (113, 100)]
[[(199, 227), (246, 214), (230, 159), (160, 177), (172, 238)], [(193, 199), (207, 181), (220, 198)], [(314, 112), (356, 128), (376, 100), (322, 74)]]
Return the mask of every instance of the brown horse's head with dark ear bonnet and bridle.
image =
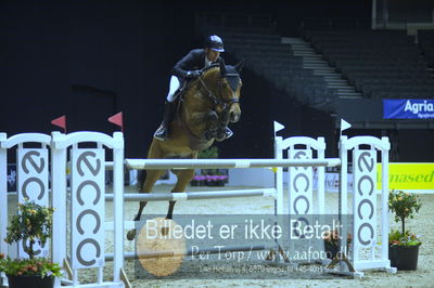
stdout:
[(231, 122), (238, 122), (241, 116), (240, 91), (242, 81), (240, 71), (242, 67), (242, 62), (235, 66), (225, 65), (224, 61), (220, 62), (221, 78), (218, 81), (218, 96), (224, 105), (220, 105), (218, 108), (221, 109), (220, 113), (228, 114), (229, 121)]

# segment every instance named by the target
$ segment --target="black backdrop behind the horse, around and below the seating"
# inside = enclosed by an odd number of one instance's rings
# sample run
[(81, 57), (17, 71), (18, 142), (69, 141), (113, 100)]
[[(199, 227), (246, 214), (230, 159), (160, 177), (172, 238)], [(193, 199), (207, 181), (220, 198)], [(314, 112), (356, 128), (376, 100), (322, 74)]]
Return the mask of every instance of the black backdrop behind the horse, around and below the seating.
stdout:
[[(199, 11), (269, 13), (282, 36), (297, 36), (306, 17), (369, 21), (371, 1), (1, 1), (0, 131), (50, 133), (58, 130), (50, 121), (66, 115), (68, 132), (112, 133), (117, 128), (106, 119), (123, 112), (126, 157), (143, 158), (173, 65), (202, 47)], [(234, 64), (230, 51), (224, 57)], [(220, 157), (272, 157), (272, 120), (286, 127), (284, 136), (326, 136), (335, 155), (330, 115), (248, 69), (242, 79), (242, 117), (234, 136), (218, 144)]]

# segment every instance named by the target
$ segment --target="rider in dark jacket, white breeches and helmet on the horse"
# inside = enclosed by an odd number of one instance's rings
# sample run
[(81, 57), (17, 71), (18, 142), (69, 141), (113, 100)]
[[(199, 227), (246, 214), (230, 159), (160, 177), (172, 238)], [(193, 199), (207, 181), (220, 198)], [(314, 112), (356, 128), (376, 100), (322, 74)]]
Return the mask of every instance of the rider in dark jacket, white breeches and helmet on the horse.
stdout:
[[(224, 41), (217, 35), (208, 36), (205, 40), (204, 49), (194, 49), (181, 58), (171, 69), (169, 92), (164, 104), (164, 118), (159, 128), (155, 131), (154, 138), (164, 141), (168, 138), (168, 123), (170, 114), (174, 110), (177, 91), (202, 75), (202, 69), (209, 67), (212, 63), (219, 62), (220, 52), (225, 52)], [(227, 128), (227, 138), (232, 135), (232, 131)]]

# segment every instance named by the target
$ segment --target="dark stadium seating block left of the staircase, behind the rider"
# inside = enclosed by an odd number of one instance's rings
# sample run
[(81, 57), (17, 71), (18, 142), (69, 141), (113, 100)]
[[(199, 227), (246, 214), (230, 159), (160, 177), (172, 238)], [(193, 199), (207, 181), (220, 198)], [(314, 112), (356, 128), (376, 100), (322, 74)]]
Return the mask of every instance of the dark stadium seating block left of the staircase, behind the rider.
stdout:
[(294, 56), (291, 45), (282, 43), (281, 36), (276, 31), (257, 32), (240, 28), (214, 31), (224, 37), (228, 53), (244, 60), (246, 67), (290, 97), (323, 110), (334, 109), (336, 91), (327, 87), (323, 77), (304, 69), (302, 57)]

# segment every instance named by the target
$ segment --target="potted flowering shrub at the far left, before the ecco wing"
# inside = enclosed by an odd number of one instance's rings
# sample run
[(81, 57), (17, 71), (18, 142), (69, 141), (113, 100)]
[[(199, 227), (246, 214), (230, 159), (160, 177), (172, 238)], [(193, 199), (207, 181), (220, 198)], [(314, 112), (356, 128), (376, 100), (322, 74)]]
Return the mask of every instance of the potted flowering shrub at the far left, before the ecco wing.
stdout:
[(0, 272), (8, 276), (9, 287), (53, 287), (54, 277), (62, 276), (61, 267), (49, 259), (35, 258), (34, 245), (44, 246), (51, 235), (53, 208), (26, 200), (18, 204), (18, 213), (8, 226), (4, 241), (28, 240), (28, 259), (11, 259), (0, 254)]

